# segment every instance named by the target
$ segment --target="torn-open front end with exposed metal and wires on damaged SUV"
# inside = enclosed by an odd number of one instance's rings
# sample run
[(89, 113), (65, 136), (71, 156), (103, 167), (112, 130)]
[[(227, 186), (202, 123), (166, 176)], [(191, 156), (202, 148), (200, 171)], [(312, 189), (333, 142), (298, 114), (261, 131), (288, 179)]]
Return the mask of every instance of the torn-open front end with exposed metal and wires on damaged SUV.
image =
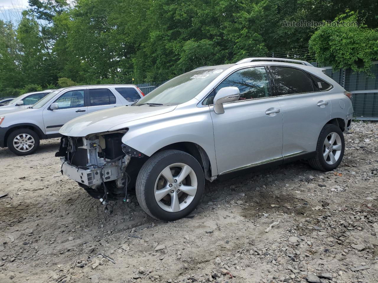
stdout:
[(128, 188), (135, 187), (136, 176), (145, 162), (143, 153), (122, 143), (128, 129), (91, 134), (86, 137), (63, 136), (59, 151), (61, 172), (104, 205), (109, 200), (128, 200)]

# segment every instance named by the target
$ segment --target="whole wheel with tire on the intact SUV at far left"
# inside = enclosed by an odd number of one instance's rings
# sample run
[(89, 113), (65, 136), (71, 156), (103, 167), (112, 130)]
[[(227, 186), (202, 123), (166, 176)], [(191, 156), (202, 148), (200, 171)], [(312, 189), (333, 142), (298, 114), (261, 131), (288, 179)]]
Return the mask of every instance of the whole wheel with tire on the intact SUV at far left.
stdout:
[(6, 141), (11, 152), (16, 155), (29, 155), (39, 148), (39, 136), (31, 129), (17, 129)]

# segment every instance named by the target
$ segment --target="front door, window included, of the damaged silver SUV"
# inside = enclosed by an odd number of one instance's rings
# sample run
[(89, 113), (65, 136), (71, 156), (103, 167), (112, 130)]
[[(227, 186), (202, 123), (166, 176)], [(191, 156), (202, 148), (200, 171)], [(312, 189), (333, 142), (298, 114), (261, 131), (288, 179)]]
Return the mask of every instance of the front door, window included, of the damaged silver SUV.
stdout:
[(223, 114), (211, 107), (218, 174), (282, 160), (282, 111), (266, 68), (236, 71), (214, 92), (226, 86), (239, 88), (240, 99), (224, 104)]

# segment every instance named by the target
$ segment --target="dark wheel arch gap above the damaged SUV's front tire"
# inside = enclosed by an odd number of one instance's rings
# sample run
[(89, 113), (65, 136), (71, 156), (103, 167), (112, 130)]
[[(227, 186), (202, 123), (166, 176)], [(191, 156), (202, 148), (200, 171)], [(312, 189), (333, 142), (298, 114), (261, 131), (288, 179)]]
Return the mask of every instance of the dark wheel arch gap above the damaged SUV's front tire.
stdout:
[(192, 155), (198, 161), (198, 163), (200, 163), (206, 180), (211, 180), (212, 164), (208, 154), (200, 145), (191, 141), (181, 141), (177, 143), (172, 143), (170, 145), (166, 145), (163, 148), (160, 148), (157, 151), (155, 151), (153, 154), (169, 149), (184, 151), (187, 154)]

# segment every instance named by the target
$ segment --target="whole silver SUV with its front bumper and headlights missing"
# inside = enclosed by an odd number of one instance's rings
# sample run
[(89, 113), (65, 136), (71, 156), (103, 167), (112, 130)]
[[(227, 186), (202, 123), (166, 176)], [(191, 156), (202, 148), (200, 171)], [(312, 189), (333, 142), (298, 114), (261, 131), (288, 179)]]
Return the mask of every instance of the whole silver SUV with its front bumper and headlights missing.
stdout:
[(339, 166), (351, 94), (307, 62), (246, 58), (173, 78), (131, 106), (60, 129), (62, 174), (104, 205), (135, 187), (161, 220), (192, 212), (205, 180), (307, 159)]

